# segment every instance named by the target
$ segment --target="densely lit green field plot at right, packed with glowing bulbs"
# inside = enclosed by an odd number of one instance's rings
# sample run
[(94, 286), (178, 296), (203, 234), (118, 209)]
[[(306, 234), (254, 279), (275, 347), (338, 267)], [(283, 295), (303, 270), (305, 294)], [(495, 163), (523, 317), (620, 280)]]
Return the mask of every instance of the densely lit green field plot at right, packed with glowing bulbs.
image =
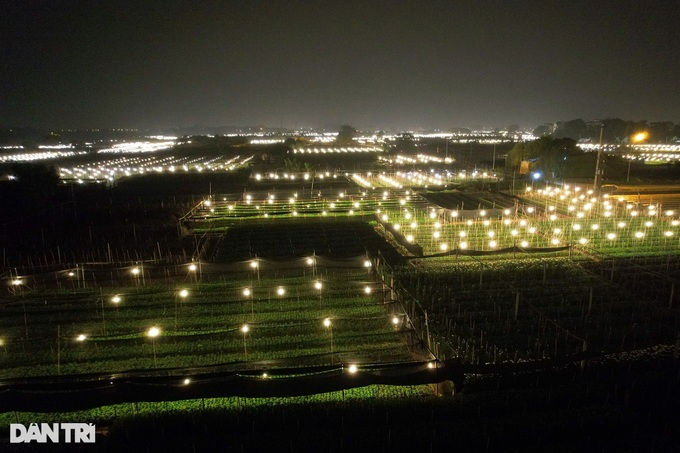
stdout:
[(425, 255), (516, 256), (575, 248), (613, 257), (680, 251), (680, 220), (675, 211), (563, 189), (527, 192), (512, 208), (449, 210), (406, 205), (386, 207), (381, 218), (406, 241), (423, 247)]

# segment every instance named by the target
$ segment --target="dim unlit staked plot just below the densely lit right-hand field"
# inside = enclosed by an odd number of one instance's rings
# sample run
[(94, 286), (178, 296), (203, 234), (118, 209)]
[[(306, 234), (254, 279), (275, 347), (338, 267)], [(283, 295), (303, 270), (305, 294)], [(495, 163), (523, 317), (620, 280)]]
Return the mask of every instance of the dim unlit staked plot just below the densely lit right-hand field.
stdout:
[(665, 301), (640, 300), (566, 259), (428, 263), (395, 279), (430, 347), (466, 363), (669, 344), (680, 328)]

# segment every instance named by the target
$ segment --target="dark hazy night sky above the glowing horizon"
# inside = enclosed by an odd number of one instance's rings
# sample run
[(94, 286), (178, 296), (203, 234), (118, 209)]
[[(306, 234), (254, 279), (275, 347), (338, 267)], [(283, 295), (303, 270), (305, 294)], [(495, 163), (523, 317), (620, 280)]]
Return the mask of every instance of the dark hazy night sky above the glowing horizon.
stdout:
[(0, 127), (680, 121), (680, 2), (1, 3)]

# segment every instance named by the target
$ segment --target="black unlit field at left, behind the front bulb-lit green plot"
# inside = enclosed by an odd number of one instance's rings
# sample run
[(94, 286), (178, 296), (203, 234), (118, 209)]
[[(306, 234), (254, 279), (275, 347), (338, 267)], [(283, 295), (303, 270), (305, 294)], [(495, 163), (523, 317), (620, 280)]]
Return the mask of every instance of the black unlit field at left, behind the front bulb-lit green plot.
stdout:
[(210, 187), (233, 192), (245, 183), (242, 172), (154, 173), (123, 179), (113, 189), (76, 185), (71, 193), (61, 187), (63, 203), (37, 217), (8, 221), (0, 233), (3, 265), (34, 273), (31, 267), (66, 263), (186, 262), (192, 241), (182, 235), (178, 220)]

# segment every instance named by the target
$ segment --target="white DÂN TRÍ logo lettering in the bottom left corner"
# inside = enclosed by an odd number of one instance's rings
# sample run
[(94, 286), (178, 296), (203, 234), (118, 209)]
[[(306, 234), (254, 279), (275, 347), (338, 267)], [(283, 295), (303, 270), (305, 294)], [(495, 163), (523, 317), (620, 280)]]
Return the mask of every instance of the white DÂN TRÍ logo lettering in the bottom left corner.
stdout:
[(94, 443), (94, 423), (21, 423), (9, 425), (9, 442), (12, 444), (31, 443)]

